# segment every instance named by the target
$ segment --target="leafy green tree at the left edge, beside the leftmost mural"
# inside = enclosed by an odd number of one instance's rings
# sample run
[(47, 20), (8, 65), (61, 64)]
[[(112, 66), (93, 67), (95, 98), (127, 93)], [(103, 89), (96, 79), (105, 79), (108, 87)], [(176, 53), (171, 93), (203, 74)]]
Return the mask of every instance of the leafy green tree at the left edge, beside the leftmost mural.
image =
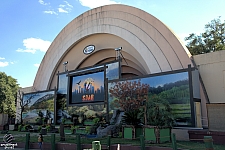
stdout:
[(0, 113), (14, 117), (16, 112), (17, 80), (0, 72)]

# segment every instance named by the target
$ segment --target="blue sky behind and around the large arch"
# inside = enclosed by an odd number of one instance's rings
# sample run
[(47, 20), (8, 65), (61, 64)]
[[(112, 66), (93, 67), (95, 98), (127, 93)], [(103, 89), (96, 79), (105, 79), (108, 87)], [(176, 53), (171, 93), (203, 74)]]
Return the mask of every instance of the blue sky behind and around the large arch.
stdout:
[(3, 0), (0, 4), (0, 72), (32, 86), (38, 66), (58, 33), (74, 18), (106, 4), (142, 9), (172, 29), (181, 39), (202, 33), (221, 16), (224, 0)]

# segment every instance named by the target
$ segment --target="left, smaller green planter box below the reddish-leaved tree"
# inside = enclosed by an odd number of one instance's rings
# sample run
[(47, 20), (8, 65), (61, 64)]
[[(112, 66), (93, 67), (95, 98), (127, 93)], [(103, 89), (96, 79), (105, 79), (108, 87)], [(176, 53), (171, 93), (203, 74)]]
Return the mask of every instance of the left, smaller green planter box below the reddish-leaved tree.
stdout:
[(132, 125), (123, 126), (123, 138), (125, 139), (136, 139), (143, 134), (142, 127), (135, 127)]

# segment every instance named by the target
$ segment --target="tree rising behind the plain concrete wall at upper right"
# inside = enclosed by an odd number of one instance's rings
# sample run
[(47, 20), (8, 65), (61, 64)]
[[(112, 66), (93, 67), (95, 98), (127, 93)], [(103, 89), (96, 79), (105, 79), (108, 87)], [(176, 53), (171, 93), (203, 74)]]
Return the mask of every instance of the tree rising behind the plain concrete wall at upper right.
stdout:
[(225, 50), (225, 21), (220, 17), (205, 25), (205, 32), (196, 35), (191, 33), (185, 38), (187, 48), (192, 55)]

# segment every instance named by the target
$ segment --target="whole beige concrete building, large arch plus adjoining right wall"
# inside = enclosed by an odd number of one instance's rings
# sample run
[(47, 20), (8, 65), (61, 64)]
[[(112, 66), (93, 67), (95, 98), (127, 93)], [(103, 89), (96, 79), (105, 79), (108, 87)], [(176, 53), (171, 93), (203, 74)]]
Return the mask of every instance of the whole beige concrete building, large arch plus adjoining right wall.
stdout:
[[(87, 55), (84, 48), (94, 45)], [(57, 87), (58, 73), (116, 59), (122, 47), (121, 77), (135, 77), (196, 67), (201, 76), (200, 101), (195, 103), (196, 126), (208, 128), (206, 103), (224, 103), (225, 52), (192, 57), (186, 46), (160, 20), (138, 8), (107, 5), (72, 20), (46, 52), (29, 92)], [(67, 62), (66, 67), (63, 65)]]

